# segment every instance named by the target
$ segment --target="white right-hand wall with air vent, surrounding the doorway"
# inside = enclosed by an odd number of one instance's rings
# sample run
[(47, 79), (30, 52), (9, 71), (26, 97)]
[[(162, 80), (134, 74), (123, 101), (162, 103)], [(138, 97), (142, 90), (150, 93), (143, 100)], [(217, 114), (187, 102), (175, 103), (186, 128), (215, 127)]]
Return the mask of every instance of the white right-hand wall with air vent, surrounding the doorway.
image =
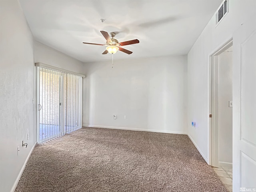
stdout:
[[(209, 163), (209, 56), (232, 38), (256, 10), (255, 0), (229, 0), (229, 13), (215, 26), (215, 15), (188, 53), (188, 134)], [(234, 96), (233, 96), (234, 97)], [(191, 121), (196, 128), (191, 127)]]

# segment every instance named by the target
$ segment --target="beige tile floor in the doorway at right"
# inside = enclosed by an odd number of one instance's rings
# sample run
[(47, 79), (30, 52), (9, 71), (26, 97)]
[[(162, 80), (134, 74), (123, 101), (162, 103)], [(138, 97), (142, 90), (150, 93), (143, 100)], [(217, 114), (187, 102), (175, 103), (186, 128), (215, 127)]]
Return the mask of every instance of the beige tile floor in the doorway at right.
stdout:
[(216, 174), (220, 177), (222, 183), (232, 192), (232, 168), (212, 167)]

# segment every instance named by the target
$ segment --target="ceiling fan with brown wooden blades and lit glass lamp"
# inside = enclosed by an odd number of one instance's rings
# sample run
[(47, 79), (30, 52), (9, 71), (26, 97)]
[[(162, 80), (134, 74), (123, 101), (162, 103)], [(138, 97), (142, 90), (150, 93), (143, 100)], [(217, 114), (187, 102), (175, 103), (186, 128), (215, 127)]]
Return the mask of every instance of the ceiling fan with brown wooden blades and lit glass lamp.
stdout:
[(127, 54), (132, 54), (131, 51), (124, 49), (121, 46), (136, 44), (140, 42), (138, 39), (134, 39), (134, 40), (124, 41), (119, 43), (118, 40), (114, 39), (114, 36), (116, 35), (114, 32), (110, 33), (111, 38), (108, 35), (108, 32), (106, 31), (100, 31), (100, 32), (104, 36), (104, 38), (107, 40), (106, 44), (86, 43), (86, 42), (83, 42), (83, 43), (90, 44), (90, 45), (107, 46), (106, 50), (102, 54), (107, 54), (107, 53), (115, 54), (118, 50)]

